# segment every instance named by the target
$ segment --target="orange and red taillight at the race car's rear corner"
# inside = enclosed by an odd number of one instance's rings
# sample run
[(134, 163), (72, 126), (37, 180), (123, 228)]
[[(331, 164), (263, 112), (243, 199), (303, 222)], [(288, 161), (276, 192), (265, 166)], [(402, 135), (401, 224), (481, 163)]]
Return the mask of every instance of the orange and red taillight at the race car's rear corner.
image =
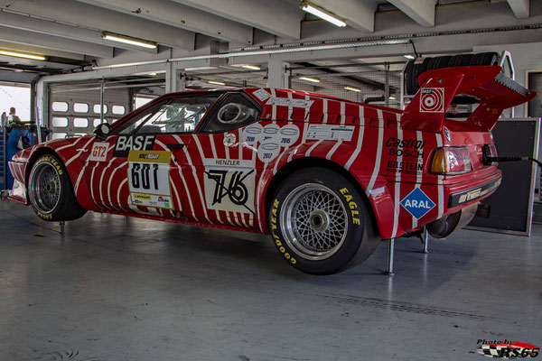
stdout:
[(463, 174), (472, 171), (469, 151), (464, 147), (443, 147), (435, 149), (431, 172), (435, 174)]

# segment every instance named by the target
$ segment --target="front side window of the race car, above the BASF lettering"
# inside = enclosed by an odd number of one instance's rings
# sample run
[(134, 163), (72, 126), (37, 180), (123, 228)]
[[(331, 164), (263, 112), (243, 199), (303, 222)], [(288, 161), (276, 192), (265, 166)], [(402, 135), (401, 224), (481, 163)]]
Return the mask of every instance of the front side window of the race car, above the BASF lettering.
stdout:
[(119, 134), (191, 133), (220, 94), (166, 99), (122, 125)]

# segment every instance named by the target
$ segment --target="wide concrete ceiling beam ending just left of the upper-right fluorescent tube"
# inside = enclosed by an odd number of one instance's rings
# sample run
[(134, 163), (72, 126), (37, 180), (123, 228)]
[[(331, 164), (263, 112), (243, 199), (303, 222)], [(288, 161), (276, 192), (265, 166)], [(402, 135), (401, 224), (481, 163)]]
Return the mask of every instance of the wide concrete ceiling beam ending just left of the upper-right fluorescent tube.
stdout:
[(261, 0), (173, 0), (290, 40), (301, 37), (303, 12)]

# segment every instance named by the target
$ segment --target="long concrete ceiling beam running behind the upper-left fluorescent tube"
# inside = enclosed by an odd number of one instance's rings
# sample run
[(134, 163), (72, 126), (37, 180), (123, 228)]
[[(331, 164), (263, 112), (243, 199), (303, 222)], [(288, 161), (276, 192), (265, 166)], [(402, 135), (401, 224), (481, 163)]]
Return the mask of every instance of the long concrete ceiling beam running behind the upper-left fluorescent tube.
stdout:
[(56, 23), (50, 20), (37, 18), (35, 16), (9, 13), (0, 10), (0, 24), (14, 29), (23, 29), (30, 32), (40, 32), (44, 34), (61, 36), (82, 42), (92, 42), (95, 44), (106, 45), (108, 47), (136, 51), (157, 52), (156, 49), (146, 49), (135, 45), (125, 44), (123, 42), (110, 42), (102, 38), (101, 32), (79, 26), (73, 26), (66, 23)]

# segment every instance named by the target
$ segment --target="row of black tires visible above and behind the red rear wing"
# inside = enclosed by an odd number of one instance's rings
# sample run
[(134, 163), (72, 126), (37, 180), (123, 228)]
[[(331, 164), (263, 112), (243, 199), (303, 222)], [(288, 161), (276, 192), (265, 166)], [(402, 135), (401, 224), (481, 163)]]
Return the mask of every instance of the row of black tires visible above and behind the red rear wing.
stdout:
[(500, 56), (497, 52), (480, 52), (478, 54), (446, 55), (435, 58), (408, 60), (405, 68), (406, 95), (413, 96), (420, 86), (417, 78), (425, 71), (465, 67), (470, 65), (499, 65)]

